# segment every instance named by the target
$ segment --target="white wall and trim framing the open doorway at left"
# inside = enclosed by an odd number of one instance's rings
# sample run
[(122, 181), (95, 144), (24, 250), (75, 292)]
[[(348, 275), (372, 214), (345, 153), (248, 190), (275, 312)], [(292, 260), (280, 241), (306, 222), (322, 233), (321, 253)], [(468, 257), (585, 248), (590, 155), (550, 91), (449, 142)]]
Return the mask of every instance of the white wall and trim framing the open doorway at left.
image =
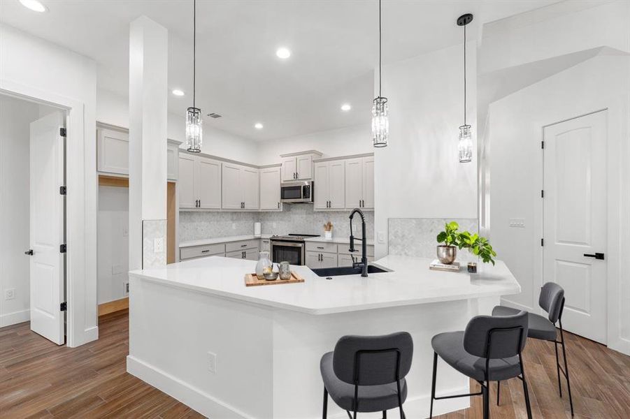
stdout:
[(96, 311), (96, 64), (92, 59), (0, 25), (0, 91), (69, 111), (66, 151), (68, 345), (98, 338)]

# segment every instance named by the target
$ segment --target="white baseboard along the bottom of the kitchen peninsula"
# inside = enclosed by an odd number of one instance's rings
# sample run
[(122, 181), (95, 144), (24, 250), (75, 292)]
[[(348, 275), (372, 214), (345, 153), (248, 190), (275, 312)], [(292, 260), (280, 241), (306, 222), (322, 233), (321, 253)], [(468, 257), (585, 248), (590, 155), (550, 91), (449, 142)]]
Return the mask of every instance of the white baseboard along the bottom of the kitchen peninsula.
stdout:
[[(161, 369), (153, 367), (147, 362), (138, 360), (131, 355), (127, 356), (127, 372), (133, 376), (140, 378), (145, 383), (152, 385), (153, 387), (165, 392), (167, 395), (178, 399), (183, 404), (189, 406), (191, 409), (198, 411), (203, 416), (208, 418), (221, 418), (221, 419), (259, 419), (249, 416), (247, 413), (239, 411), (234, 406), (230, 406), (219, 399), (208, 395), (199, 388), (195, 388), (193, 385), (189, 385), (179, 378), (168, 374)], [(468, 386), (461, 388), (454, 388), (448, 390), (448, 392), (442, 392), (441, 395), (456, 395), (470, 392)], [(408, 418), (426, 418), (429, 416), (429, 404), (431, 402), (431, 396), (420, 396), (414, 398), (408, 398), (403, 408)], [(329, 400), (330, 403), (334, 403)], [(442, 415), (444, 413), (458, 411), (460, 409), (466, 409), (470, 406), (470, 397), (461, 397), (457, 399), (436, 400), (434, 403), (434, 415)], [(380, 413), (376, 414), (375, 418), (381, 417)], [(394, 413), (395, 416), (395, 413)], [(329, 418), (347, 418), (345, 412), (335, 415), (329, 415)], [(319, 416), (317, 416), (319, 418)], [(371, 418), (369, 414), (361, 413), (361, 418)], [(315, 418), (313, 418), (315, 419)]]

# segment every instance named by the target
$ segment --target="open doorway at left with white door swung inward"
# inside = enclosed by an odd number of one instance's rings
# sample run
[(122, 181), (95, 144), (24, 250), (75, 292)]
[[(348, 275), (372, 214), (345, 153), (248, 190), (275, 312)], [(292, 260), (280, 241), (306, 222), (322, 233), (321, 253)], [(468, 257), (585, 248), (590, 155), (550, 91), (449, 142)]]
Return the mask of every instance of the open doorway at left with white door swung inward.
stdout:
[[(65, 112), (0, 95), (0, 326), (66, 342)], [(10, 197), (10, 199), (8, 198)]]

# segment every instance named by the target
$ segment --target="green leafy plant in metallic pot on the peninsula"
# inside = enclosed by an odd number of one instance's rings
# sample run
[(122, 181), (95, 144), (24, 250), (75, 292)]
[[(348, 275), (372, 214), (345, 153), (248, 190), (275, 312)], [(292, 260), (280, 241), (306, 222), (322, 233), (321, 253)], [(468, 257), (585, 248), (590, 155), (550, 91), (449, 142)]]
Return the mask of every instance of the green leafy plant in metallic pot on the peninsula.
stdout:
[(477, 233), (459, 231), (459, 224), (455, 221), (445, 223), (444, 230), (438, 234), (438, 259), (441, 263), (450, 265), (457, 257), (457, 249), (468, 249), (473, 255), (478, 256), (483, 263), (492, 263), (496, 252), (492, 249), (492, 244)]

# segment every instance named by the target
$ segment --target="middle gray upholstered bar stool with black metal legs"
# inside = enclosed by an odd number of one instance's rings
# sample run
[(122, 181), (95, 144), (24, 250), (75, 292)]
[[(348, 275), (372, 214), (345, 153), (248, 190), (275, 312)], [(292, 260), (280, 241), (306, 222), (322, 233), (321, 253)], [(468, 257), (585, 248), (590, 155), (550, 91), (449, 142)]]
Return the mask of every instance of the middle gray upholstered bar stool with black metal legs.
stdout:
[[(518, 377), (523, 382), (527, 417), (531, 419), (529, 392), (521, 352), (527, 341), (527, 312), (514, 316), (476, 316), (463, 332), (446, 332), (431, 339), (434, 349), (431, 411), (433, 401), (454, 397), (483, 396), (483, 418), (490, 417), (489, 382)], [(465, 395), (436, 397), (438, 355), (445, 362), (480, 383), (481, 391)]]

